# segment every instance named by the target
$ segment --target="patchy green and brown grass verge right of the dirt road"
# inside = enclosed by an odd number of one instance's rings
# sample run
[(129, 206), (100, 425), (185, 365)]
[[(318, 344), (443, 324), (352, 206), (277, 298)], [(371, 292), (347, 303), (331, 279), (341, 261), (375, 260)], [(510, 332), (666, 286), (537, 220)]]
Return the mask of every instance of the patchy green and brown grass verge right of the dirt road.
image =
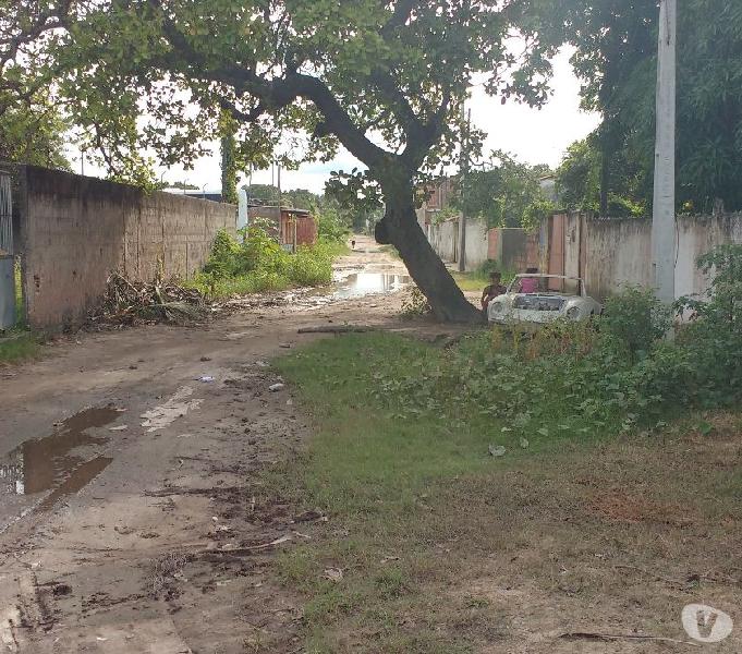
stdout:
[(330, 517), (277, 562), (304, 597), (306, 652), (567, 653), (579, 645), (545, 634), (682, 638), (684, 604), (740, 605), (742, 584), (718, 581), (740, 577), (739, 415), (650, 438), (534, 435), (494, 458), (502, 423), (486, 412), (402, 401), (411, 387), (393, 380), (435, 375), (445, 355), (357, 335), (276, 362), (316, 435), (271, 482)]

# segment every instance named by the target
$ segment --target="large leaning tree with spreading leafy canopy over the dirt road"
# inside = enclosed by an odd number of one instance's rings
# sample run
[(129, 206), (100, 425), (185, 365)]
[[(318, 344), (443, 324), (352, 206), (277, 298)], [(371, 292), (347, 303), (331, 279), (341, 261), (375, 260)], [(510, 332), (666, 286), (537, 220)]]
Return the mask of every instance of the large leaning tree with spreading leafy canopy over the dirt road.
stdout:
[[(198, 156), (224, 110), (240, 123), (235, 156), (257, 167), (278, 146), (295, 165), (342, 144), (365, 165), (345, 182), (385, 202), (377, 238), (397, 246), (440, 319), (475, 320), (416, 222), (415, 185), (450, 161), (474, 77), (503, 99), (545, 100), (528, 4), (71, 0), (51, 74), (111, 166), (129, 158), (136, 171), (143, 148), (166, 162)], [(515, 31), (524, 39), (508, 49)]]

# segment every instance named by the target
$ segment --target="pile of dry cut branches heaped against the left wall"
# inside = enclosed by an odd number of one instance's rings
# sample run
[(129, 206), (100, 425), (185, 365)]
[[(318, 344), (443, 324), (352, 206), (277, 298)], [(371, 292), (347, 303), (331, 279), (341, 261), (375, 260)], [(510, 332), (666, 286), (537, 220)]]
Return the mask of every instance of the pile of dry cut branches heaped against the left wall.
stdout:
[(177, 281), (131, 281), (113, 272), (106, 284), (100, 306), (90, 313), (89, 322), (105, 325), (168, 323), (187, 325), (206, 318), (210, 306), (200, 291)]

